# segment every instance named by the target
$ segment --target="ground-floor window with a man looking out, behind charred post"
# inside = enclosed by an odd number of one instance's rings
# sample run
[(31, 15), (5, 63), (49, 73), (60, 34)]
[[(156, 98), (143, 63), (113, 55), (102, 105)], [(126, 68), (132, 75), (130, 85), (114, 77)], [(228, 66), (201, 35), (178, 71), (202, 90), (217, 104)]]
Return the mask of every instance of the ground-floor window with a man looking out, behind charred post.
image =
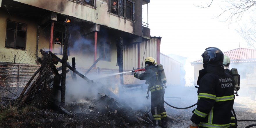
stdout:
[[(70, 36), (70, 34), (68, 34)], [(54, 41), (54, 54), (63, 54), (63, 48), (65, 43), (65, 32), (55, 31), (55, 41)], [(70, 51), (70, 41), (68, 41), (67, 55)]]

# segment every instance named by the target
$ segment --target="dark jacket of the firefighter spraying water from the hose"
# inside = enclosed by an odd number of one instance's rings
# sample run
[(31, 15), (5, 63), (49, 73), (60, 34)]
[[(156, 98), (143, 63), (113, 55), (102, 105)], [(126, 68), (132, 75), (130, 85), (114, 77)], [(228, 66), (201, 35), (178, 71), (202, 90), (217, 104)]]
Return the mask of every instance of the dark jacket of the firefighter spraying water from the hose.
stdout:
[(148, 90), (152, 93), (156, 90), (163, 89), (163, 83), (159, 77), (159, 73), (157, 72), (157, 66), (150, 65), (145, 67), (146, 72), (141, 74), (135, 74), (134, 77), (140, 80), (146, 80), (146, 84), (148, 84)]

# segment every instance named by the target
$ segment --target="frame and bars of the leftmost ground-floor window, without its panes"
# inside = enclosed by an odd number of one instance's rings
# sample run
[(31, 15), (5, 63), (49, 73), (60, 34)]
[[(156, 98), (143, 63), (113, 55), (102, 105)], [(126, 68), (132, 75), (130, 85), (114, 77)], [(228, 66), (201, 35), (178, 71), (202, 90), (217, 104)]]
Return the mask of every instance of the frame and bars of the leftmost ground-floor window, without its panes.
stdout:
[[(16, 28), (15, 29), (12, 29), (12, 28), (7, 28), (7, 24), (8, 22), (13, 22), (13, 23), (16, 23)], [(22, 30), (18, 30), (18, 24), (23, 24), (23, 25), (26, 25), (26, 28), (25, 28), (25, 31), (22, 31)], [(6, 21), (6, 34), (5, 34), (5, 48), (10, 48), (10, 49), (18, 49), (18, 50), (26, 50), (26, 42), (27, 42), (27, 24), (24, 24), (24, 23), (20, 23), (20, 22), (15, 22), (15, 21), (11, 21), (11, 20), (7, 20)], [(22, 28), (21, 28), (22, 29)], [(6, 45), (6, 41), (7, 41), (7, 31), (8, 30), (11, 30), (11, 31), (14, 31), (14, 47), (10, 47), (10, 46), (7, 46)], [(17, 40), (17, 32), (18, 31), (21, 31), (21, 32), (25, 32), (25, 39), (24, 39), (24, 48), (21, 49), (21, 48), (17, 48), (16, 47), (16, 40)]]

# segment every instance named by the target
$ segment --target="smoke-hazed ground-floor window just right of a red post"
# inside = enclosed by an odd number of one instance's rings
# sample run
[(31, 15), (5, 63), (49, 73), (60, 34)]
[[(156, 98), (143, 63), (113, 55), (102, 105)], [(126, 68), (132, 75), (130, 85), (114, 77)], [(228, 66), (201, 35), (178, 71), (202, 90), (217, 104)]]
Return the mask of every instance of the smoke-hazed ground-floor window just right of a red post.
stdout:
[(110, 61), (110, 43), (101, 41), (99, 43), (99, 57), (103, 61)]

